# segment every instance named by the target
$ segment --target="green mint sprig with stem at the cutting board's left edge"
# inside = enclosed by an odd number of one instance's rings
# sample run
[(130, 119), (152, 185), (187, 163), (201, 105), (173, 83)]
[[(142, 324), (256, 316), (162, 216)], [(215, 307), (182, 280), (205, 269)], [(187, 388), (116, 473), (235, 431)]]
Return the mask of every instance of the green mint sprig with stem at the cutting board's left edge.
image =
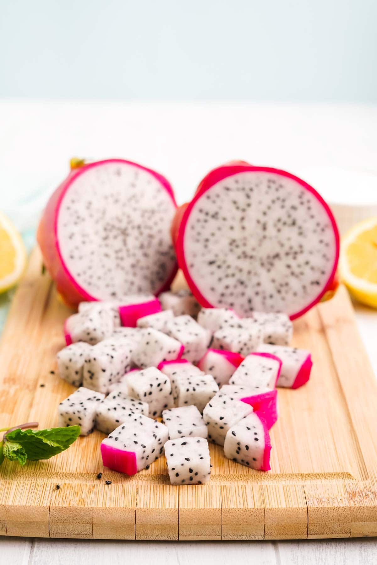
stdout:
[(5, 431), (3, 441), (0, 442), (0, 465), (4, 459), (18, 461), (24, 465), (28, 459), (37, 461), (39, 459), (50, 459), (70, 445), (79, 437), (80, 426), (71, 425), (66, 428), (21, 429), (34, 427), (32, 424), (21, 424), (16, 428), (2, 429)]

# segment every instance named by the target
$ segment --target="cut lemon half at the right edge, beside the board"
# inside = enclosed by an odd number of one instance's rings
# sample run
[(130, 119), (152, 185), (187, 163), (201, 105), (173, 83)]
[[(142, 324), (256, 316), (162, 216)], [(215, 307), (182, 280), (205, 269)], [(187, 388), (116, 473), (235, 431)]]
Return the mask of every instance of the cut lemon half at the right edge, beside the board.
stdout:
[(377, 218), (361, 221), (342, 238), (339, 271), (358, 301), (377, 308)]

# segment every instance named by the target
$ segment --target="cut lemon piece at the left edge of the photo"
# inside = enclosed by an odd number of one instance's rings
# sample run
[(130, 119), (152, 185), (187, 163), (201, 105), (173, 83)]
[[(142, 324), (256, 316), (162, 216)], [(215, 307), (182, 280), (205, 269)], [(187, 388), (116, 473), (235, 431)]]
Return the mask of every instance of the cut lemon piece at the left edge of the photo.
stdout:
[(26, 261), (27, 253), (19, 232), (0, 212), (0, 293), (20, 280)]

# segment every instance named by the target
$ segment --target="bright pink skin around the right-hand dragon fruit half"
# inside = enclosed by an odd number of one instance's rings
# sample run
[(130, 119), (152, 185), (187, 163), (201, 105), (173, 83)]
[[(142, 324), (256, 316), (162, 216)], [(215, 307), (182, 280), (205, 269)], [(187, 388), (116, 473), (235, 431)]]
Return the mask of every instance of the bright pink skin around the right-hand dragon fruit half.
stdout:
[[(181, 207), (182, 209), (178, 208), (177, 212), (176, 212), (176, 217), (177, 220), (173, 221), (173, 226), (174, 229), (172, 229), (172, 233), (174, 233), (175, 235), (175, 246), (176, 246), (176, 254), (177, 254), (177, 259), (178, 259), (178, 263), (179, 266), (181, 268), (181, 270), (184, 273), (185, 279), (188, 283), (188, 286), (190, 288), (190, 290), (192, 291), (192, 293), (194, 294), (194, 296), (197, 298), (198, 302), (203, 306), (203, 307), (207, 307), (207, 308), (211, 308), (211, 307), (233, 307), (235, 308), (237, 314), (241, 315), (241, 316), (246, 316), (246, 315), (251, 315), (252, 310), (259, 310), (259, 311), (283, 311), (282, 308), (280, 307), (274, 307), (271, 309), (266, 309), (266, 308), (262, 308), (261, 305), (257, 304), (255, 305), (255, 307), (251, 308), (246, 304), (246, 300), (247, 297), (245, 299), (245, 303), (244, 303), (244, 311), (237, 311), (237, 308), (235, 307), (235, 305), (232, 303), (232, 301), (227, 301), (226, 299), (222, 299), (221, 301), (219, 300), (219, 298), (217, 297), (216, 299), (211, 299), (209, 300), (205, 294), (203, 294), (198, 286), (198, 284), (202, 284), (203, 280), (201, 280), (200, 282), (197, 282), (195, 280), (195, 276), (192, 276), (192, 270), (191, 267), (192, 265), (189, 265), (188, 263), (190, 261), (187, 260), (186, 258), (186, 253), (185, 253), (185, 244), (186, 244), (186, 238), (185, 238), (185, 233), (186, 233), (186, 228), (188, 225), (188, 221), (190, 218), (190, 215), (192, 214), (193, 210), (196, 207), (196, 203), (198, 201), (200, 201), (200, 199), (202, 198), (201, 202), (204, 202), (205, 198), (210, 199), (210, 193), (206, 194), (211, 188), (213, 188), (217, 183), (223, 181), (224, 179), (230, 179), (232, 176), (237, 175), (239, 173), (267, 173), (268, 175), (272, 175), (275, 176), (277, 178), (280, 178), (281, 181), (294, 181), (295, 183), (297, 183), (298, 186), (301, 187), (301, 189), (304, 189), (304, 191), (307, 191), (307, 195), (308, 197), (314, 197), (313, 201), (317, 201), (318, 205), (320, 208), (322, 208), (322, 211), (324, 212), (324, 216), (327, 216), (327, 221), (328, 221), (328, 226), (330, 226), (330, 229), (332, 231), (332, 240), (333, 240), (333, 255), (332, 257), (329, 259), (330, 262), (330, 266), (331, 268), (329, 268), (328, 273), (327, 273), (327, 279), (326, 280), (321, 280), (318, 282), (318, 288), (317, 288), (317, 292), (313, 293), (310, 295), (310, 298), (307, 298), (307, 301), (304, 301), (304, 298), (302, 299), (302, 304), (300, 307), (293, 307), (293, 310), (291, 311), (286, 311), (286, 313), (289, 315), (289, 318), (291, 318), (291, 320), (298, 318), (299, 316), (301, 316), (302, 314), (304, 314), (307, 310), (310, 310), (311, 307), (313, 307), (315, 304), (317, 304), (320, 299), (323, 297), (323, 295), (327, 292), (328, 289), (330, 289), (332, 287), (333, 281), (335, 279), (335, 274), (336, 274), (336, 268), (337, 268), (337, 262), (339, 259), (339, 250), (340, 250), (340, 238), (339, 238), (339, 231), (337, 229), (337, 225), (336, 225), (336, 221), (335, 218), (332, 215), (332, 212), (330, 210), (330, 208), (328, 207), (327, 203), (323, 200), (323, 198), (317, 193), (317, 191), (310, 186), (309, 184), (307, 184), (304, 180), (299, 179), (298, 177), (292, 175), (291, 173), (288, 173), (286, 171), (282, 171), (280, 169), (276, 169), (276, 168), (272, 168), (272, 167), (256, 167), (256, 166), (252, 166), (246, 163), (238, 163), (238, 164), (233, 164), (233, 163), (228, 163), (226, 165), (220, 166), (218, 168), (213, 169), (213, 171), (210, 171), (210, 173), (208, 173), (206, 175), (206, 177), (201, 181), (198, 190), (196, 192), (196, 194), (194, 195), (192, 201), (188, 204), (188, 205), (184, 205), (184, 207)], [(308, 216), (309, 217), (309, 216)], [(178, 224), (178, 225), (177, 225)], [(236, 237), (236, 234), (235, 234)], [(209, 244), (207, 246), (209, 249), (211, 249), (211, 245)], [(210, 263), (210, 262), (208, 262)], [(267, 271), (270, 272), (270, 271)], [(273, 270), (271, 271), (272, 274)], [(216, 272), (216, 275), (219, 276), (219, 273)], [(209, 280), (209, 273), (202, 273), (202, 279), (204, 277), (205, 280)], [(245, 281), (242, 281), (243, 283), (245, 283)], [(249, 286), (249, 288), (251, 288), (251, 285), (248, 284), (246, 286)], [(242, 287), (243, 289), (245, 289), (245, 285)], [(232, 287), (233, 289), (233, 287)], [(213, 281), (213, 295), (216, 295), (218, 291), (218, 284), (216, 279), (214, 279)], [(253, 300), (255, 298), (255, 294), (249, 295), (250, 300)], [(247, 306), (247, 307), (246, 307)], [(289, 310), (289, 308), (288, 308)]]

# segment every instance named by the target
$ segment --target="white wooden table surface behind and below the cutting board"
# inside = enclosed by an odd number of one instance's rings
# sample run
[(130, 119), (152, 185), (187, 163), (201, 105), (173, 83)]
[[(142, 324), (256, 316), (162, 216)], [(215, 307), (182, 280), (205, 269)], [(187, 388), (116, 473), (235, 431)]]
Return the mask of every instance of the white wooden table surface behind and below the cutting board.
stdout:
[[(15, 208), (15, 202), (55, 188), (73, 155), (124, 157), (157, 168), (172, 181), (179, 202), (193, 194), (208, 169), (234, 158), (292, 172), (316, 164), (377, 172), (376, 131), (377, 106), (0, 101), (0, 208), (16, 209), (23, 227), (32, 224), (34, 208), (23, 202)], [(357, 306), (357, 320), (377, 373), (377, 312)], [(369, 565), (377, 563), (377, 540), (164, 543), (0, 537), (1, 564), (223, 565), (231, 560)]]

